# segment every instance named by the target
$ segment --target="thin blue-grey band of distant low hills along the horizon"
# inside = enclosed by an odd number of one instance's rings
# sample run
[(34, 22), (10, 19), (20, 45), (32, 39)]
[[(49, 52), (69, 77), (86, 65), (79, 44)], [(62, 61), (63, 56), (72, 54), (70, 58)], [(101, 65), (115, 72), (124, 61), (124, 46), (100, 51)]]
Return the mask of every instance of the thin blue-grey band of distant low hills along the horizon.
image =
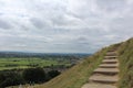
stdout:
[(24, 53), (24, 52), (0, 52), (0, 57), (47, 57), (47, 56), (76, 56), (83, 57), (92, 54), (85, 53)]

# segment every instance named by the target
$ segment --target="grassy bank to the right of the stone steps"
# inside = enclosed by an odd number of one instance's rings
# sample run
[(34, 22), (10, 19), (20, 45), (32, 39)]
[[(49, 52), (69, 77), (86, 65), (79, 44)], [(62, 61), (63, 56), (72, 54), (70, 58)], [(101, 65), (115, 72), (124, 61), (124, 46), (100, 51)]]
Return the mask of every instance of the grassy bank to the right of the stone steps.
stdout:
[(119, 88), (133, 88), (133, 38), (123, 42), (119, 48)]

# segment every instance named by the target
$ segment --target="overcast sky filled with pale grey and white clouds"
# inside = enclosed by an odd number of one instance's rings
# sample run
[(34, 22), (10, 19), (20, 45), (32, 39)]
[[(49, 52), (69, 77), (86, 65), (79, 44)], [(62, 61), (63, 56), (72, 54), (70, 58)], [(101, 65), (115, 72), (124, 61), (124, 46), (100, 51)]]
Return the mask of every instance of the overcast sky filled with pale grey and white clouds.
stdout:
[(94, 53), (133, 36), (133, 0), (0, 0), (0, 51)]

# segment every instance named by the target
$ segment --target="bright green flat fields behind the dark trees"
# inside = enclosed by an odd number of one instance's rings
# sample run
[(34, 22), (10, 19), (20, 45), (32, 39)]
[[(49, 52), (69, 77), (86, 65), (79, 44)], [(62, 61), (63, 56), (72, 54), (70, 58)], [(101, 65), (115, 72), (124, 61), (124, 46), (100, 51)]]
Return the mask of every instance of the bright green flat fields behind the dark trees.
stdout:
[(70, 65), (69, 62), (59, 62), (55, 59), (42, 59), (42, 58), (0, 58), (0, 70), (14, 69), (14, 68), (27, 68), (31, 65), (45, 67), (51, 65)]

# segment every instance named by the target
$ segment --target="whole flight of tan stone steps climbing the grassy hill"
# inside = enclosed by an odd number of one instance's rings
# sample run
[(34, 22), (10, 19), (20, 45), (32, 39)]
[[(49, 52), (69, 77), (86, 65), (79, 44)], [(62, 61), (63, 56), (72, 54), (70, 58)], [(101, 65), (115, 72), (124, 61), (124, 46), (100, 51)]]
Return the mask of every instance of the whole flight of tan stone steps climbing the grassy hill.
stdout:
[(82, 88), (116, 88), (119, 81), (119, 61), (115, 50), (110, 50), (102, 64), (93, 72), (89, 82)]

